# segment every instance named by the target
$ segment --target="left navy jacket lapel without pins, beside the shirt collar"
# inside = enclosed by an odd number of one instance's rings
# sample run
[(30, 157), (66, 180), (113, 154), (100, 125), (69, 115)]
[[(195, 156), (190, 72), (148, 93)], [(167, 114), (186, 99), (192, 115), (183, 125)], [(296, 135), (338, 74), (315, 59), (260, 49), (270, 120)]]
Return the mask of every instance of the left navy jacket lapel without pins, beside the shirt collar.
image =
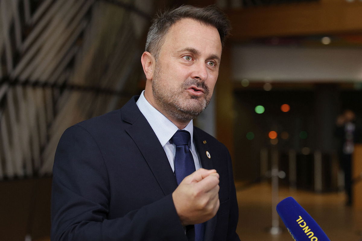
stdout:
[(122, 108), (122, 119), (131, 124), (126, 132), (138, 146), (164, 195), (171, 194), (177, 188), (176, 178), (159, 139), (135, 101), (136, 99), (132, 98)]

